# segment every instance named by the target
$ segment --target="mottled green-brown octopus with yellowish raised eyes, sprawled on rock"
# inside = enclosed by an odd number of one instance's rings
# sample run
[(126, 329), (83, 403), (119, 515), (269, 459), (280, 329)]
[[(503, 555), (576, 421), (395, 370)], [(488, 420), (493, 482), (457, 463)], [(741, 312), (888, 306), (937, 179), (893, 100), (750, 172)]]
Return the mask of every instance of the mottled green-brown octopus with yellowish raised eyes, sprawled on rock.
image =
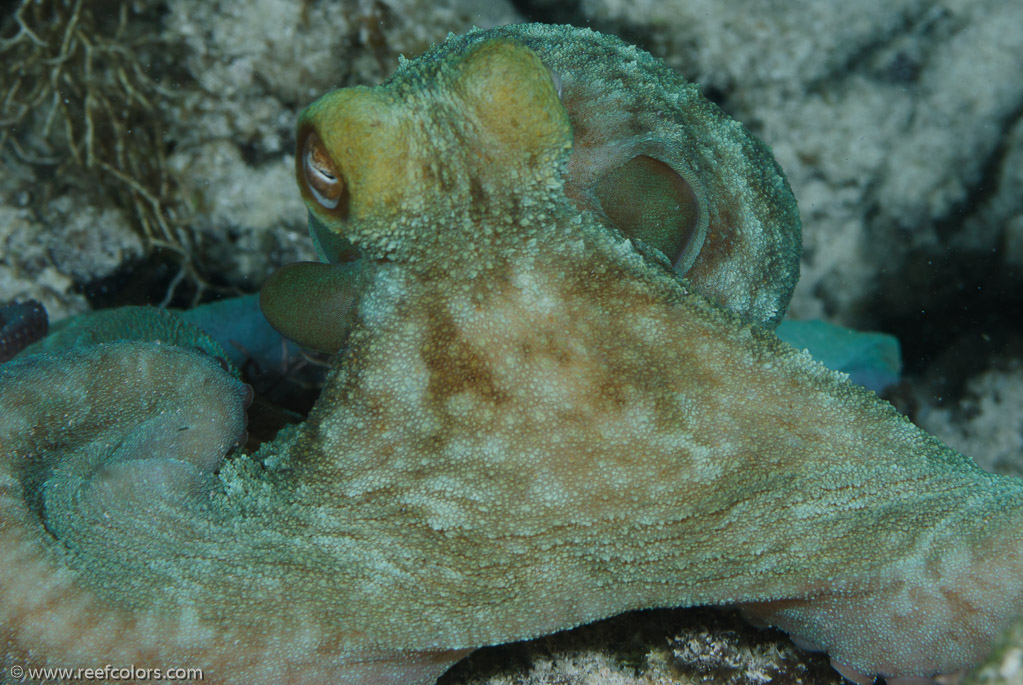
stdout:
[(475, 31), (324, 95), (297, 141), (323, 263), (262, 299), (335, 353), (305, 420), (238, 449), (252, 393), (187, 334), (0, 366), (8, 674), (426, 685), (481, 645), (729, 605), (908, 682), (1021, 612), (1023, 484), (779, 340), (792, 192), (659, 60)]

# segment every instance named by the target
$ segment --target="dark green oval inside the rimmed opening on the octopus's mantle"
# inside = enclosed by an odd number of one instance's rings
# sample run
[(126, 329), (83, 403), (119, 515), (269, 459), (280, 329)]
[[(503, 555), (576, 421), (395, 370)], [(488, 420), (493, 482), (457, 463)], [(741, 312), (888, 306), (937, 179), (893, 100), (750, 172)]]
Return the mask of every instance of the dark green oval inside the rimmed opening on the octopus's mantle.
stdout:
[(660, 249), (680, 271), (693, 264), (703, 242), (700, 201), (674, 169), (640, 154), (605, 174), (594, 191), (622, 233)]

